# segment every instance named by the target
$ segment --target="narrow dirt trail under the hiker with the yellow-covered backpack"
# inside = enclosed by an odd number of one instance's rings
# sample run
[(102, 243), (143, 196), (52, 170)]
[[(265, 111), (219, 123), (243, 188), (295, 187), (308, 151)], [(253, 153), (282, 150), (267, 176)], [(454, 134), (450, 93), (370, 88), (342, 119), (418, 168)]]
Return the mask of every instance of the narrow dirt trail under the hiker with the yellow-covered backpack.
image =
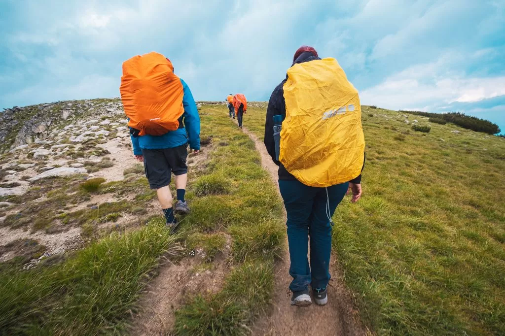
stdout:
[[(261, 155), (262, 166), (270, 173), (278, 190), (278, 167), (272, 161), (265, 145), (245, 127), (242, 128), (242, 131), (255, 142), (256, 150)], [(284, 218), (285, 216), (284, 212)], [(275, 266), (272, 310), (268, 312), (267, 316), (260, 318), (255, 323), (252, 328), (254, 335), (354, 336), (372, 334), (360, 321), (359, 312), (352, 303), (351, 294), (343, 285), (334, 254), (330, 261), (332, 279), (328, 289), (328, 304), (322, 307), (315, 303), (309, 307), (291, 306), (291, 294), (288, 294), (288, 287), (292, 278), (289, 275), (287, 236), (284, 243), (284, 253), (285, 257), (279, 260)]]

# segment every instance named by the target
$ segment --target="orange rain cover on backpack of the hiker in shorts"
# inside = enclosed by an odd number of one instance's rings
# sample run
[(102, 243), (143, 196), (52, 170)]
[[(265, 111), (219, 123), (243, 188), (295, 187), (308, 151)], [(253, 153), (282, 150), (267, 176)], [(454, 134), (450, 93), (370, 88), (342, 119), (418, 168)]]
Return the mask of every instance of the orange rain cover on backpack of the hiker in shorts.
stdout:
[(162, 54), (153, 51), (125, 61), (119, 91), (128, 126), (139, 135), (163, 135), (179, 128), (184, 91)]

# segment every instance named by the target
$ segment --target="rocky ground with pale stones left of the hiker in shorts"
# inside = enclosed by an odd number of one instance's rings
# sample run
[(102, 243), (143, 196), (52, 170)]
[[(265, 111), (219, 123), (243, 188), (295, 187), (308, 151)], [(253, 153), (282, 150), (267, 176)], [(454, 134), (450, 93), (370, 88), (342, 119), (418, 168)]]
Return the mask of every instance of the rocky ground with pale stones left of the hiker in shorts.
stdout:
[(0, 123), (0, 262), (29, 268), (158, 206), (119, 99), (16, 107)]

